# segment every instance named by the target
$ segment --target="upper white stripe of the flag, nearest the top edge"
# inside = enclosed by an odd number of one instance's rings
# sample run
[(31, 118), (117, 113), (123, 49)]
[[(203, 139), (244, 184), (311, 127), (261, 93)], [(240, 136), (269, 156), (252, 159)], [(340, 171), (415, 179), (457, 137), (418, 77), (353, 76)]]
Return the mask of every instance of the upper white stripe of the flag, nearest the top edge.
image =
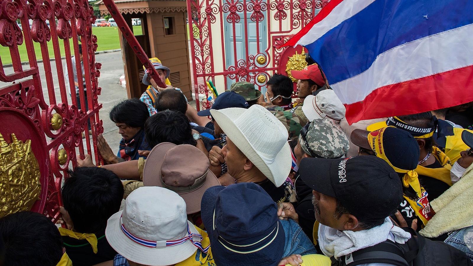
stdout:
[(375, 0), (344, 0), (338, 4), (322, 21), (312, 26), (306, 35), (302, 36), (296, 45), (312, 44), (329, 30), (337, 27), (344, 20), (353, 17), (359, 11), (368, 7)]

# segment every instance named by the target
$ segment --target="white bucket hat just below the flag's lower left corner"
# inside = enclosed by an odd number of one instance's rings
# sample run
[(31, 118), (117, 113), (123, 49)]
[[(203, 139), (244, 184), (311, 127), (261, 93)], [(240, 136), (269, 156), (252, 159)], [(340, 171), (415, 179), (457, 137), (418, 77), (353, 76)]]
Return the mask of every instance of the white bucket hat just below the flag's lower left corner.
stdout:
[(302, 106), (302, 112), (309, 121), (327, 118), (342, 120), (345, 117), (345, 111), (345, 106), (332, 89), (324, 89), (316, 96), (307, 96)]

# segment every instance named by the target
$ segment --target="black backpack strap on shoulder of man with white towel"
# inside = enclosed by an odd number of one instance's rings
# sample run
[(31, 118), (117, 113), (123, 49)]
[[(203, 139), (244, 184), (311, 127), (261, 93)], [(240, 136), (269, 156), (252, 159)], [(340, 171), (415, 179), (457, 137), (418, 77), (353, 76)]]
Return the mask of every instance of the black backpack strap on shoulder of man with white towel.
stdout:
[(372, 247), (359, 249), (338, 259), (339, 266), (357, 266), (368, 263), (409, 266), (404, 259), (403, 251), (391, 240), (385, 240)]

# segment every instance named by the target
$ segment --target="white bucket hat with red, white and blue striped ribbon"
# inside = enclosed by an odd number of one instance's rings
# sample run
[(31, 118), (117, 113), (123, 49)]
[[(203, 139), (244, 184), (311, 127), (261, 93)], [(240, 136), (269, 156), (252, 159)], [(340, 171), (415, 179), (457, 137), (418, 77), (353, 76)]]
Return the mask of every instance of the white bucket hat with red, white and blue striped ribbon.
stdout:
[(191, 257), (202, 239), (187, 221), (184, 199), (158, 186), (131, 192), (123, 211), (108, 219), (105, 236), (123, 257), (150, 266), (174, 265)]

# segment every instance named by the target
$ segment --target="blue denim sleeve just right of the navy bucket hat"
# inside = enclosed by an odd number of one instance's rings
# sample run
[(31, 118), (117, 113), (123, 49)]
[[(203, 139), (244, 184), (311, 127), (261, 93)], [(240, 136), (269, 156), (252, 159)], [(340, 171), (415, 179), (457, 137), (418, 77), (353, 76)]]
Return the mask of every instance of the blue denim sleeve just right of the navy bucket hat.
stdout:
[(281, 220), (281, 224), (284, 229), (284, 234), (286, 235), (286, 244), (284, 245), (284, 255), (282, 257), (288, 257), (294, 254), (317, 254), (314, 244), (302, 231), (302, 228), (300, 228), (297, 222), (289, 219)]

